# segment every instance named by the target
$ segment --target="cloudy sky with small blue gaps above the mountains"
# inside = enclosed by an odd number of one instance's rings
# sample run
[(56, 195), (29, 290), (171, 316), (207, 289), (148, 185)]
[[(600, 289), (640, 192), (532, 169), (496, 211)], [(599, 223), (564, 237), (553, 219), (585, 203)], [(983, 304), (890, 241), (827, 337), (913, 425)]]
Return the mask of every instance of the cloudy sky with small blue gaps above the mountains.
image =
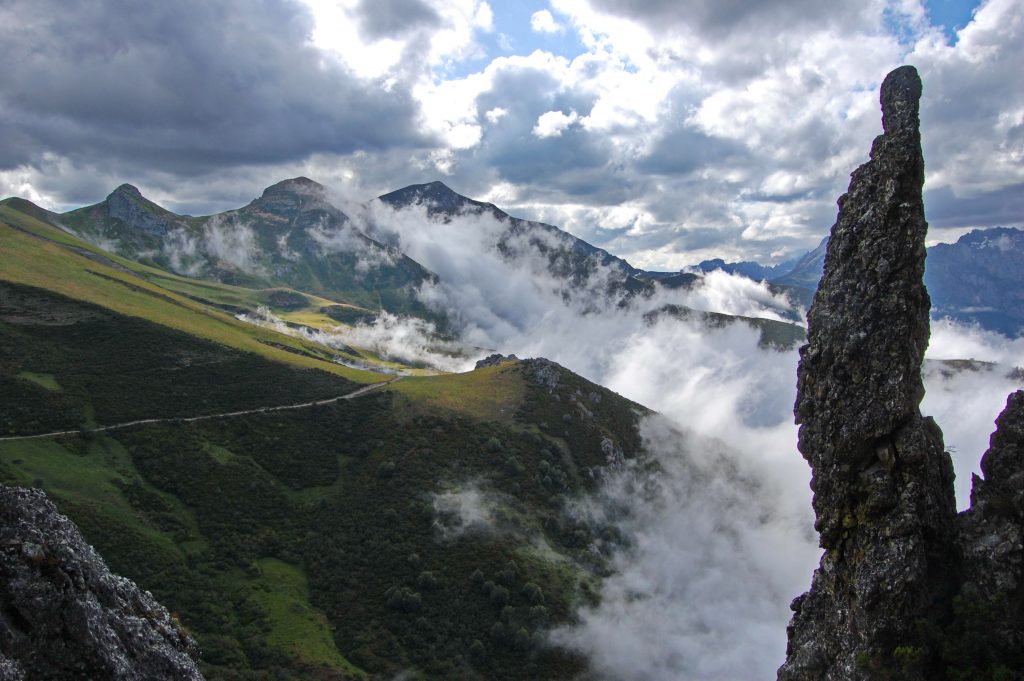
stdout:
[(647, 269), (813, 248), (912, 63), (930, 239), (1024, 222), (1019, 0), (0, 0), (0, 196), (440, 179)]

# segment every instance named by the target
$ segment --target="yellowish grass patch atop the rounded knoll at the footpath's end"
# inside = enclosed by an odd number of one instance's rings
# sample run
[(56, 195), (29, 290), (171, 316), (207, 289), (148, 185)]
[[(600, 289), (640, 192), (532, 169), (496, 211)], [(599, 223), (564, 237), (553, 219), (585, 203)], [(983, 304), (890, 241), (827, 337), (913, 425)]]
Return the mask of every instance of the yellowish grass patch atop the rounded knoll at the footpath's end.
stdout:
[(465, 374), (409, 377), (389, 389), (406, 397), (414, 409), (429, 408), (511, 423), (525, 396), (515, 364), (503, 361)]

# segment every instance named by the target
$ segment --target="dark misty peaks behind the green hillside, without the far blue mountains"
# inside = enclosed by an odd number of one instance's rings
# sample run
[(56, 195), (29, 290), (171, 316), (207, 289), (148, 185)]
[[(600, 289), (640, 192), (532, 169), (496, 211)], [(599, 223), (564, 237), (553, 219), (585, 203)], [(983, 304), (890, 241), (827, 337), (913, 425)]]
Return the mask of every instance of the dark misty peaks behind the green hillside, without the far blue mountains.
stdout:
[[(443, 316), (417, 295), (437, 275), (403, 252), (400, 236), (375, 219), (375, 207), (422, 208), (418, 219), (427, 222), (493, 219), (500, 226), (487, 247), (507, 261), (531, 267), (545, 263), (544, 273), (558, 283), (566, 299), (577, 295), (586, 301), (599, 294), (600, 300), (626, 303), (658, 288), (690, 289), (701, 279), (639, 269), (554, 225), (513, 217), (439, 181), (413, 184), (355, 206), (358, 215), (333, 205), (325, 187), (305, 177), (278, 182), (242, 208), (202, 217), (173, 213), (130, 184), (66, 213), (17, 198), (2, 203), (104, 250), (177, 274), (248, 288), (286, 287), (371, 313), (418, 316), (441, 329)], [(788, 292), (805, 307), (810, 303), (806, 289), (778, 286), (775, 292)], [(793, 318), (799, 321), (799, 315)]]

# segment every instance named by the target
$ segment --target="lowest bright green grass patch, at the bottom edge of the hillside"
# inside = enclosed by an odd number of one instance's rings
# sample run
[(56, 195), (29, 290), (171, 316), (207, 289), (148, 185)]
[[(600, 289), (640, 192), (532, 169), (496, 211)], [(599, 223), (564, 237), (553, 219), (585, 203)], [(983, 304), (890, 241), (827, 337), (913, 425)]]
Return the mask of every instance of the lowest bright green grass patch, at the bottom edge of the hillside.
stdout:
[(302, 664), (365, 677), (338, 651), (327, 616), (309, 603), (305, 572), (276, 558), (261, 558), (257, 565), (260, 577), (252, 598), (267, 612), (267, 644)]

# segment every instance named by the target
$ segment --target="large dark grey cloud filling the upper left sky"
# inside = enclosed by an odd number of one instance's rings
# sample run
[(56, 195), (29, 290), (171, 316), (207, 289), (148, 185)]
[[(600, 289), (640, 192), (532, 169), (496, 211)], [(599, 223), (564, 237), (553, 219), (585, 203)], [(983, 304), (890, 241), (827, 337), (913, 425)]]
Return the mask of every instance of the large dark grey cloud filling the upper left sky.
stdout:
[(0, 9), (0, 168), (197, 175), (417, 144), (416, 105), (331, 62), (286, 0), (12, 0)]

